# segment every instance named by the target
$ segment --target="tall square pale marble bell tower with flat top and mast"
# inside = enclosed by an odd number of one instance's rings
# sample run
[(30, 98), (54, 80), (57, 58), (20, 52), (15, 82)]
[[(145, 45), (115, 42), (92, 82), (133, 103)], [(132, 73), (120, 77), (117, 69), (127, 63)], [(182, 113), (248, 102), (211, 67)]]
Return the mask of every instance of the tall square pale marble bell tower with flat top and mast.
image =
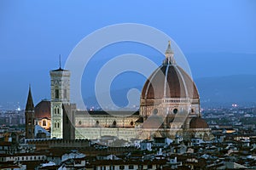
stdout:
[(70, 102), (70, 71), (61, 68), (49, 71), (50, 75), (50, 137), (63, 138), (63, 104)]

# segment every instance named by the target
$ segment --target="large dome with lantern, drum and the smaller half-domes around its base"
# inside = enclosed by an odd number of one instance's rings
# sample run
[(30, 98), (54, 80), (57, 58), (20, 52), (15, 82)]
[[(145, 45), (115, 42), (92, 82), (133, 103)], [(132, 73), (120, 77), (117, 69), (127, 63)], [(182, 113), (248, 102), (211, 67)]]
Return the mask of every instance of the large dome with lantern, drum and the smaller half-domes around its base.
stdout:
[(171, 42), (163, 64), (143, 86), (140, 116), (143, 117), (144, 131), (151, 137), (160, 135), (173, 139), (179, 135), (186, 140), (193, 137), (212, 139), (211, 129), (201, 118), (200, 96), (195, 82), (177, 65)]

